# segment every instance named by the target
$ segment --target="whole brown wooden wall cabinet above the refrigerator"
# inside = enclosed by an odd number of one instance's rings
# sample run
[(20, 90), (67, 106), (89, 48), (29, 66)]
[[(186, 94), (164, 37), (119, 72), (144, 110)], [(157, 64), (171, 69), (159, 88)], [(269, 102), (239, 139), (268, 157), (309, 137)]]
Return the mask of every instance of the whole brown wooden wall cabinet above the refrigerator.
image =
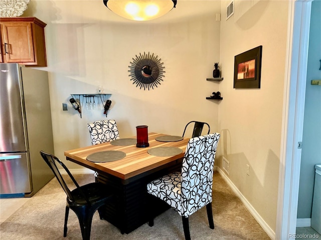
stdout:
[(0, 62), (47, 66), (46, 25), (36, 17), (0, 17)]

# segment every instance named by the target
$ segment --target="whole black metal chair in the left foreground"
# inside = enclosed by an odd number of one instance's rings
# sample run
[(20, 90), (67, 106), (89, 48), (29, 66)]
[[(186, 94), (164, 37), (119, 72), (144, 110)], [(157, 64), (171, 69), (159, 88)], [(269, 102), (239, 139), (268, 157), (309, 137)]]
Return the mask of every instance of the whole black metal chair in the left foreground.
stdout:
[[(56, 156), (44, 151), (40, 151), (40, 154), (47, 162), (51, 170), (55, 173), (55, 176), (57, 177), (60, 185), (67, 194), (64, 236), (67, 236), (67, 221), (69, 208), (71, 208), (76, 213), (79, 219), (82, 239), (89, 240), (93, 214), (99, 207), (103, 206), (111, 199), (112, 194), (108, 192), (108, 190), (106, 189), (106, 185), (101, 182), (92, 182), (83, 186), (79, 186), (75, 178), (72, 176), (68, 168), (61, 160), (59, 160)], [(64, 168), (64, 170), (66, 170), (70, 179), (76, 186), (75, 189), (69, 189), (65, 181), (66, 178), (64, 179), (62, 177), (57, 167), (57, 163), (59, 163)], [(100, 217), (100, 219), (102, 218)]]

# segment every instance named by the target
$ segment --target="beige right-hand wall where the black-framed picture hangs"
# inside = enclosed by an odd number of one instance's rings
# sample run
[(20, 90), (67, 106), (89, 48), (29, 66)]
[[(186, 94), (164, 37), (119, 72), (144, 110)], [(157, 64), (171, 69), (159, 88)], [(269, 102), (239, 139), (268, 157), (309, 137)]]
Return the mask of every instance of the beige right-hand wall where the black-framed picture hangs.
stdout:
[[(235, 1), (235, 14), (225, 20), (229, 2), (221, 6), (221, 152), (230, 162), (231, 181), (275, 231), (288, 2)], [(234, 56), (258, 45), (261, 88), (233, 88)], [(216, 163), (222, 167), (222, 158)]]

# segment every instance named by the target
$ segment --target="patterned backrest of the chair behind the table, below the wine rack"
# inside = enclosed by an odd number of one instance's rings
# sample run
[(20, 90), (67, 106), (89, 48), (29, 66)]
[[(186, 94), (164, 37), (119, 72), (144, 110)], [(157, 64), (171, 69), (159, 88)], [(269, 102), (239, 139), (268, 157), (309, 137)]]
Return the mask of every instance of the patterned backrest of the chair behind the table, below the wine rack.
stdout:
[(114, 119), (89, 122), (87, 125), (92, 145), (119, 138), (117, 124)]

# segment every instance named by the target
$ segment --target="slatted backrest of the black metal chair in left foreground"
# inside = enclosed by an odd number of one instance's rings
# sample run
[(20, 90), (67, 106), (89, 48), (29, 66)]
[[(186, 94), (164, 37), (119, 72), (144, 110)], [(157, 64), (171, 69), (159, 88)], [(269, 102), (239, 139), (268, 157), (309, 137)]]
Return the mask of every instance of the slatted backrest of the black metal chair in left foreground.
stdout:
[(72, 182), (75, 184), (75, 186), (78, 188), (79, 190), (79, 193), (84, 197), (84, 199), (86, 199), (87, 203), (90, 204), (88, 198), (86, 197), (86, 195), (83, 193), (83, 191), (81, 190), (79, 184), (77, 183), (77, 181), (75, 180), (75, 178), (73, 177), (73, 175), (70, 173), (70, 171), (68, 170), (68, 168), (66, 167), (66, 165), (58, 159), (58, 157), (50, 154), (50, 153), (47, 153), (47, 152), (44, 152), (44, 151), (40, 151), (40, 154), (42, 156), (42, 158), (44, 158), (44, 160), (46, 161), (46, 163), (49, 165), (49, 167), (51, 168), (51, 170), (54, 172), (58, 182), (60, 183), (60, 185), (62, 186), (62, 188), (64, 189), (64, 191), (66, 192), (68, 198), (70, 201), (74, 201), (74, 197), (73, 195), (71, 194), (71, 191), (68, 187), (68, 185), (66, 184), (66, 177), (63, 178), (58, 167), (57, 167), (57, 163), (59, 163), (63, 168), (64, 170), (66, 170), (66, 172), (68, 173), (68, 176), (70, 177), (70, 179), (72, 180)]

